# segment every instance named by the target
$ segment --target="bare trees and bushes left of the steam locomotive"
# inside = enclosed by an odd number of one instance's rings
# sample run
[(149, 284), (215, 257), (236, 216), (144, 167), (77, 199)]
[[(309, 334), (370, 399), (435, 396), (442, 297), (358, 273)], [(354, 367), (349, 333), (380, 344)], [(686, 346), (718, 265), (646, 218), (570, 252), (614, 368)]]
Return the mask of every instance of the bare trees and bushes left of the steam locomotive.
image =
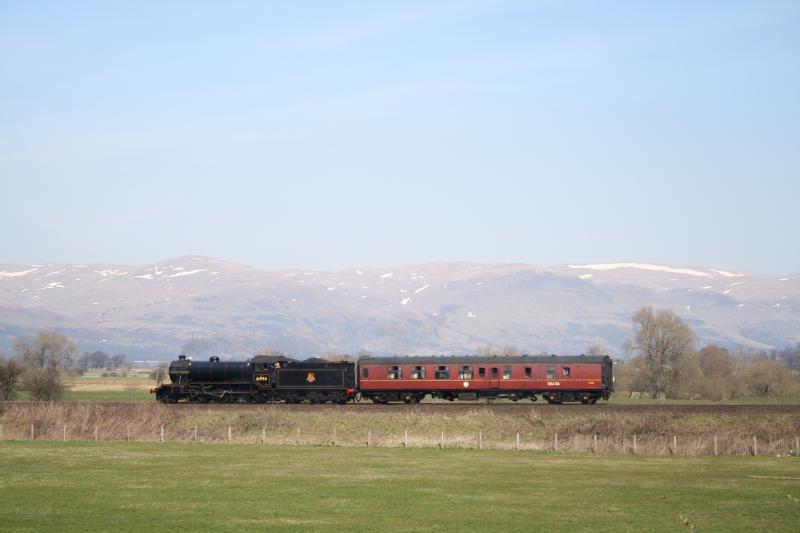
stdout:
[(95, 351), (78, 356), (74, 341), (58, 331), (44, 329), (19, 337), (12, 357), (5, 358), (0, 351), (0, 400), (13, 399), (17, 389), (27, 390), (32, 400), (59, 400), (64, 397), (64, 373), (118, 371), (126, 367), (124, 354)]

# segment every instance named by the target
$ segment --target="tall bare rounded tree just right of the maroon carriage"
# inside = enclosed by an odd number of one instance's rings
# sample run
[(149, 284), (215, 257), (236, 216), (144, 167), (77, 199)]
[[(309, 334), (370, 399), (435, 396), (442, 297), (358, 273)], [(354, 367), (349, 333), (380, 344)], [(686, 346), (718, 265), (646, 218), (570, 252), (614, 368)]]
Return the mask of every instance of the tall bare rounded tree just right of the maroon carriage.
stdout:
[(668, 309), (644, 307), (632, 319), (636, 336), (629, 341), (629, 348), (644, 359), (650, 396), (674, 395), (681, 362), (692, 351), (694, 333)]

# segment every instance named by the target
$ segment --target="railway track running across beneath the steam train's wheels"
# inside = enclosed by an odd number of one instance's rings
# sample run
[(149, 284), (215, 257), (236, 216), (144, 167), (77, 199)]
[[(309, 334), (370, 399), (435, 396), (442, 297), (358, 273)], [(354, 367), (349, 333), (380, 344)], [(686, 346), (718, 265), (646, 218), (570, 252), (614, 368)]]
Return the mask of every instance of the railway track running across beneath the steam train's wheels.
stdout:
[[(10, 407), (41, 406), (47, 402), (0, 402), (0, 412)], [(124, 406), (142, 406), (156, 404), (155, 402), (93, 402), (93, 401), (62, 401), (60, 404), (88, 405), (94, 404), (111, 408)], [(157, 404), (160, 405), (160, 404)], [(531, 409), (543, 413), (564, 414), (597, 414), (597, 413), (674, 413), (674, 414), (758, 414), (758, 413), (796, 413), (800, 416), (800, 404), (608, 404), (600, 402), (596, 405), (549, 405), (543, 402), (518, 402), (518, 403), (483, 403), (483, 402), (446, 402), (446, 403), (421, 403), (416, 405), (406, 404), (373, 404), (371, 402), (351, 403), (347, 405), (312, 405), (312, 404), (190, 404), (177, 403), (164, 405), (165, 409), (201, 410), (201, 411), (258, 411), (263, 409), (284, 411), (287, 413), (303, 412), (372, 412), (372, 413), (464, 413), (472, 411), (490, 411), (496, 413), (523, 413)]]

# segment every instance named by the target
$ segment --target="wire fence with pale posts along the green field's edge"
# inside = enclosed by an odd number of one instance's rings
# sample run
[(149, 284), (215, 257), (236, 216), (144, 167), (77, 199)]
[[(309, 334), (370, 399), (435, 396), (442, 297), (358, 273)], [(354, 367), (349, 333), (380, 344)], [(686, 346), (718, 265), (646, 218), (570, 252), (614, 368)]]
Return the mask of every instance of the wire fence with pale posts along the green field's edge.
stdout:
[[(121, 431), (122, 429), (122, 431)], [(304, 433), (302, 428), (291, 430), (261, 428), (234, 428), (234, 426), (176, 427), (159, 425), (119, 424), (104, 426), (81, 424), (60, 426), (31, 424), (3, 426), (0, 424), (0, 441), (93, 441), (93, 442), (177, 442), (197, 444), (249, 444), (274, 446), (343, 446), (376, 448), (453, 448), (479, 450), (550, 451), (555, 453), (637, 454), (637, 455), (750, 455), (797, 456), (800, 437), (759, 439), (752, 437), (689, 437), (679, 435), (581, 435), (553, 434), (543, 439), (520, 433), (491, 437), (479, 431), (475, 434), (447, 434), (430, 431), (415, 434), (408, 429), (402, 432), (337, 433), (332, 428), (328, 434), (320, 431)]]

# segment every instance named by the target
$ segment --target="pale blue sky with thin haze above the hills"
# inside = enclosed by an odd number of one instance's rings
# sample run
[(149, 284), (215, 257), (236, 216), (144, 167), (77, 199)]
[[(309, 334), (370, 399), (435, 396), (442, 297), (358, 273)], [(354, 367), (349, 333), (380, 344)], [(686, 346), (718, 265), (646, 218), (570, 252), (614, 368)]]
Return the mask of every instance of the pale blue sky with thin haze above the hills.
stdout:
[(76, 4), (0, 9), (0, 263), (800, 272), (800, 3)]

